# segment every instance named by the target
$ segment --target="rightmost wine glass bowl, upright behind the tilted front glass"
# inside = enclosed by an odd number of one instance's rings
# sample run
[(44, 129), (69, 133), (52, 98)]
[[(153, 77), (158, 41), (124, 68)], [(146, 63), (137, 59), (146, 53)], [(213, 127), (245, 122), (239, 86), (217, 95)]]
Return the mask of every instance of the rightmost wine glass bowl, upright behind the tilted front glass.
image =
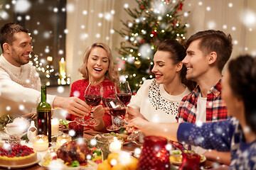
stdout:
[(132, 91), (128, 81), (119, 81), (117, 84), (117, 97), (125, 104), (125, 106), (127, 106), (132, 98)]

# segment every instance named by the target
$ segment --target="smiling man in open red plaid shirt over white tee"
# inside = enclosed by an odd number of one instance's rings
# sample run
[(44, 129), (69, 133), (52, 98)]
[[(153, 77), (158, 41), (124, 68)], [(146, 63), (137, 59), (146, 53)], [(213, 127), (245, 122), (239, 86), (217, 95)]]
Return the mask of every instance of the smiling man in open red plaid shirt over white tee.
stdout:
[[(196, 81), (198, 86), (185, 96), (178, 108), (178, 122), (198, 123), (225, 120), (228, 118), (225, 103), (221, 98), (222, 70), (233, 50), (232, 38), (220, 30), (205, 30), (191, 36), (186, 42), (186, 78)], [(230, 161), (227, 153), (206, 151), (192, 147), (209, 159), (218, 159), (224, 154), (225, 164)], [(215, 157), (216, 155), (216, 157)]]

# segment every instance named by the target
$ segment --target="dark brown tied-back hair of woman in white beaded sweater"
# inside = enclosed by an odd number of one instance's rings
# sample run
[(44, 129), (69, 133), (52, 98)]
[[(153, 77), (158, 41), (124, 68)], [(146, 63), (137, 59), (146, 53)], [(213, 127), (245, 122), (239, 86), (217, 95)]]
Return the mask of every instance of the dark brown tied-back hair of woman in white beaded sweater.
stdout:
[[(178, 64), (186, 57), (186, 50), (177, 40), (165, 40), (157, 47), (158, 51), (169, 52), (170, 59), (174, 64)], [(181, 82), (185, 84), (190, 91), (196, 88), (196, 82), (186, 79), (186, 66), (183, 64), (181, 69)]]

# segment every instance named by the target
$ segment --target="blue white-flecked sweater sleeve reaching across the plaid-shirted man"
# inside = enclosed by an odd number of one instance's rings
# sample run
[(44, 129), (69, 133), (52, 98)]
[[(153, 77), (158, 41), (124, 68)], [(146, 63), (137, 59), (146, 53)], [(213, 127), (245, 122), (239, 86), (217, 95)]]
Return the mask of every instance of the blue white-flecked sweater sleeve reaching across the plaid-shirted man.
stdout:
[(235, 126), (230, 120), (213, 123), (181, 123), (178, 127), (178, 142), (195, 145), (205, 149), (216, 149), (221, 152), (230, 151)]

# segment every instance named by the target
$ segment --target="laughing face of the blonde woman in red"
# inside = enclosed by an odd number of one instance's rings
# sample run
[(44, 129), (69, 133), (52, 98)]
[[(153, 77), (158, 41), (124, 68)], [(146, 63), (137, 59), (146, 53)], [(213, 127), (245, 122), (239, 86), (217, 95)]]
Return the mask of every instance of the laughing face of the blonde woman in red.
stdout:
[(89, 81), (102, 82), (109, 67), (107, 52), (102, 47), (94, 47), (87, 60)]

